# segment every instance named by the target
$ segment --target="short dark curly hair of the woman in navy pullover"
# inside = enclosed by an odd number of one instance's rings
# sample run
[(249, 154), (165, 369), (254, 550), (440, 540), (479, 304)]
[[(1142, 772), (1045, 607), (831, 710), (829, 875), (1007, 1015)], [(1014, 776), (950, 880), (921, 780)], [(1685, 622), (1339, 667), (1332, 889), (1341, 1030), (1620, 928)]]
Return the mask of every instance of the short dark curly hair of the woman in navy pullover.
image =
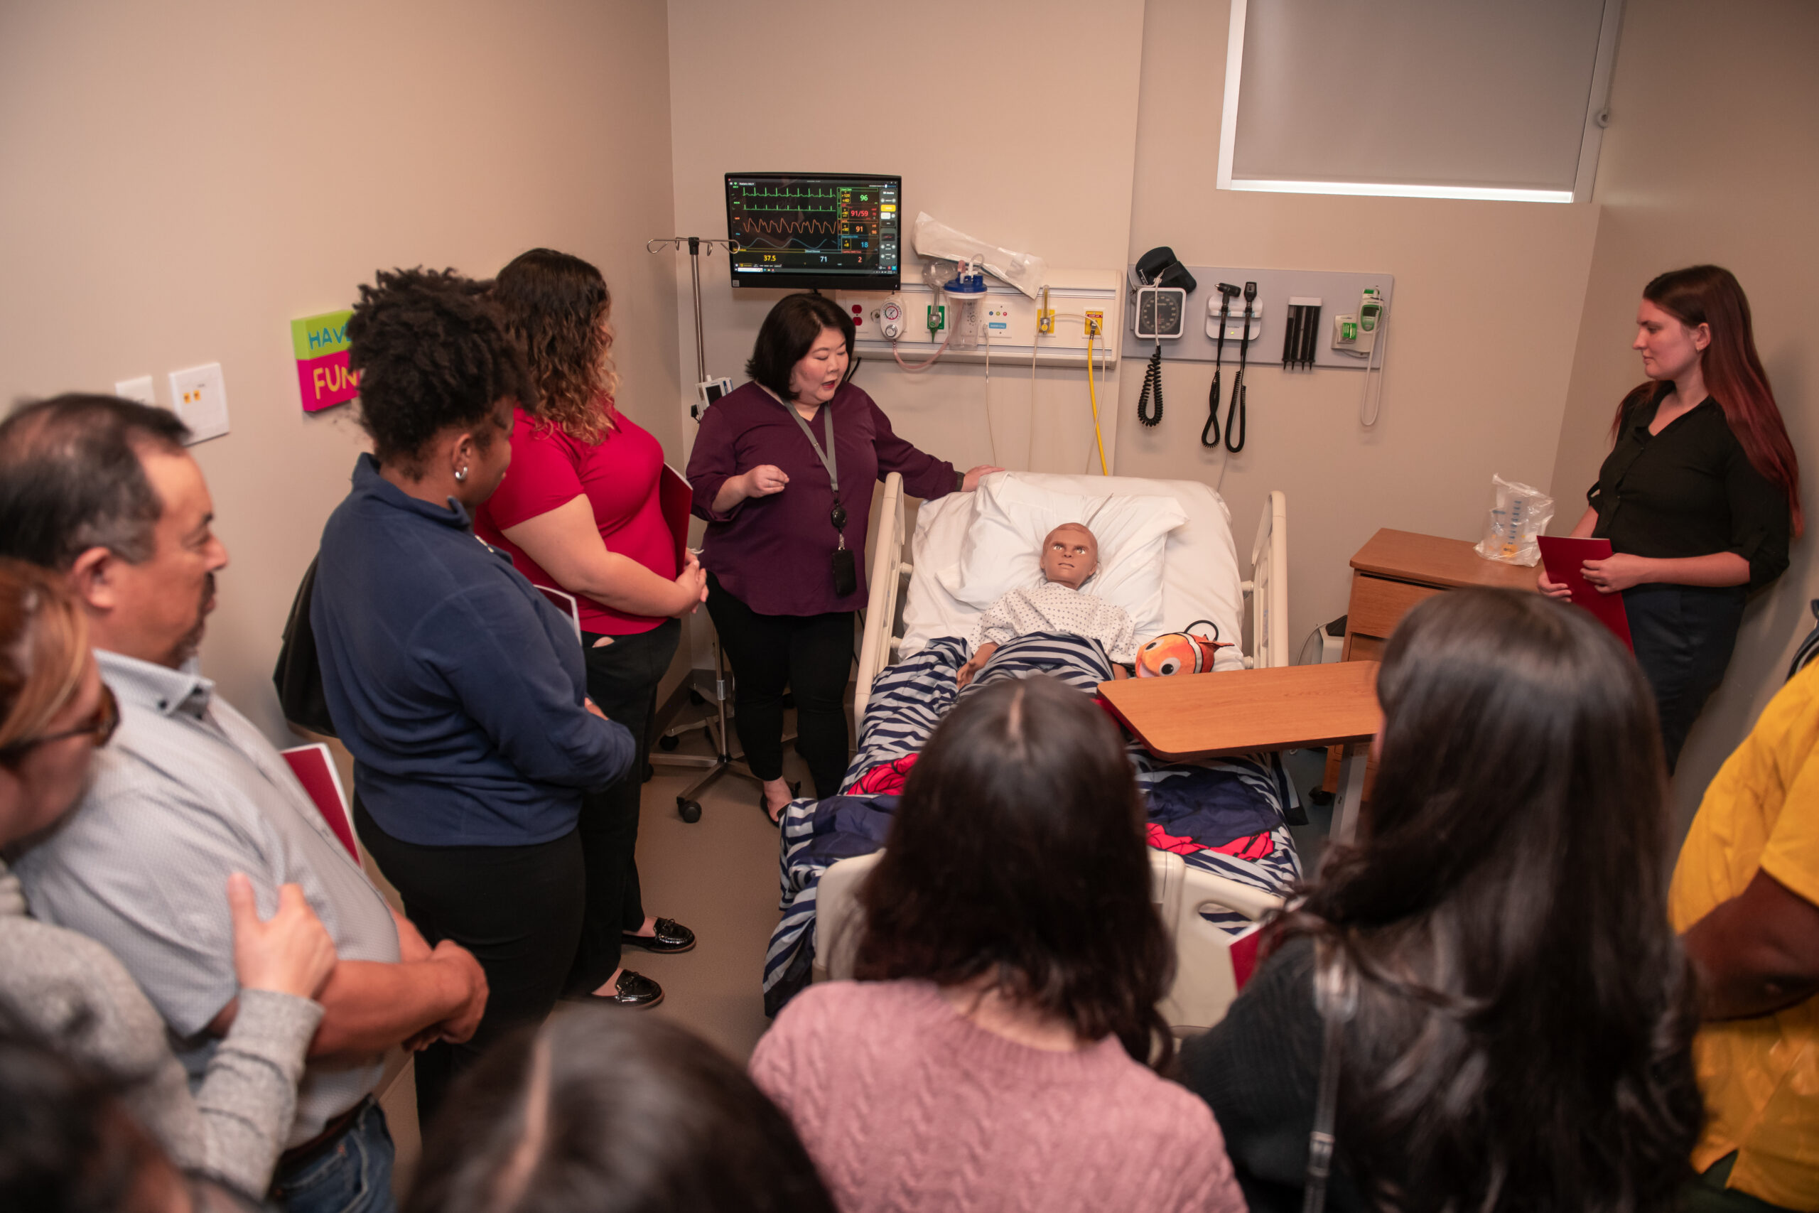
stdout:
[[(500, 400), (537, 407), (524, 355), (506, 335), (491, 286), (453, 269), (378, 271), (347, 322), (360, 373), (360, 426), (380, 464), (417, 475), (424, 447), (451, 426), (478, 426)], [(491, 426), (475, 429), (482, 449)]]

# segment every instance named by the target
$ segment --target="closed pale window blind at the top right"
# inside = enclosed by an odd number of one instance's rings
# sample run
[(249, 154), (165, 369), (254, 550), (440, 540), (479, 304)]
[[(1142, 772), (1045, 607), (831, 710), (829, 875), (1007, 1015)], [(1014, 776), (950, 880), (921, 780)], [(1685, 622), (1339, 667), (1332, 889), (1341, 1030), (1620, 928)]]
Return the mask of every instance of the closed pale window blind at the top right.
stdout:
[(1221, 189), (1590, 198), (1621, 0), (1231, 0)]

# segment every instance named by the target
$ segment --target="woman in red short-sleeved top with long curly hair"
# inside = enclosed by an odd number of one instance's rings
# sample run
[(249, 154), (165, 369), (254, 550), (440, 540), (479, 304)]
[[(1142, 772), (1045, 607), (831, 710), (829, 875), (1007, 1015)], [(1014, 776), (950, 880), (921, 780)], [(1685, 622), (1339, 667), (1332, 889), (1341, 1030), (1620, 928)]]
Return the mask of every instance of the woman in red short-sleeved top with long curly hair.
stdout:
[[(677, 569), (658, 482), (664, 449), (613, 407), (611, 295), (588, 262), (531, 249), (493, 287), (524, 347), (542, 400), (517, 411), (511, 471), (475, 513), (475, 533), (511, 553), (537, 586), (578, 604), (588, 697), (638, 738), (657, 706), (682, 618), (706, 598), (689, 556)], [(635, 860), (644, 760), (588, 793), (580, 813), (588, 915), (569, 993), (620, 1006), (657, 1006), (662, 987), (618, 964), (620, 946), (688, 951), (695, 933), (644, 913)]]

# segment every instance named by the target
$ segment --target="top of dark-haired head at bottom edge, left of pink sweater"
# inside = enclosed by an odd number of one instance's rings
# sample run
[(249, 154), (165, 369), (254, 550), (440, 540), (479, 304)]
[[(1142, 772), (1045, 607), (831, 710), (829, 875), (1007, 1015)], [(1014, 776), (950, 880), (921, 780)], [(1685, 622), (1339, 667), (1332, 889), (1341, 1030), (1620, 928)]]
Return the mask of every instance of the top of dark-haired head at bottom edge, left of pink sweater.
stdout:
[(406, 1213), (833, 1213), (784, 1115), (653, 1017), (520, 1031), (427, 1129)]

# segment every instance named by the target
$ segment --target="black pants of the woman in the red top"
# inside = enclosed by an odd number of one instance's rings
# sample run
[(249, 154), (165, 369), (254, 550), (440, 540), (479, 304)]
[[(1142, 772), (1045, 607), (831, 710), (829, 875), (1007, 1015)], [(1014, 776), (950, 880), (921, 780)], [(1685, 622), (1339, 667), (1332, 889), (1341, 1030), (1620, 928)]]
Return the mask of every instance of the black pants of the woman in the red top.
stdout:
[[(609, 644), (598, 644), (602, 638)], [(617, 784), (589, 791), (580, 802), (580, 849), (588, 864), (588, 911), (568, 989), (598, 989), (618, 967), (618, 933), (644, 926), (638, 887), (638, 798), (644, 791), (644, 753), (649, 747), (657, 684), (682, 640), (682, 620), (669, 618), (635, 637), (582, 633), (588, 658), (588, 698), (609, 718), (631, 729), (638, 757)]]

